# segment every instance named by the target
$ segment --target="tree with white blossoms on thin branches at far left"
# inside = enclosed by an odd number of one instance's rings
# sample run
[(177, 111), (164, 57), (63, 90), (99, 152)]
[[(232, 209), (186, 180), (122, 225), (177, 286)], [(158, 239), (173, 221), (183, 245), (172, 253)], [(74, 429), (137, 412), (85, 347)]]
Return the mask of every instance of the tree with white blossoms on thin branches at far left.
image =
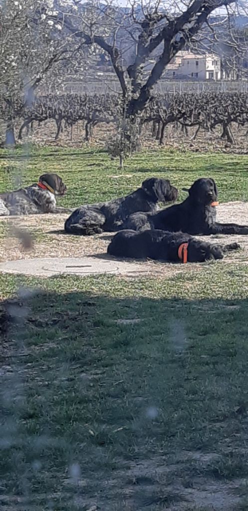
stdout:
[[(58, 84), (73, 58), (83, 63), (82, 41), (61, 37), (61, 26), (39, 15), (41, 6), (53, 14), (50, 0), (5, 0), (0, 4), (1, 117), (7, 123), (6, 143), (15, 144), (14, 122), (30, 105), (36, 89)], [(81, 52), (81, 54), (80, 54)]]

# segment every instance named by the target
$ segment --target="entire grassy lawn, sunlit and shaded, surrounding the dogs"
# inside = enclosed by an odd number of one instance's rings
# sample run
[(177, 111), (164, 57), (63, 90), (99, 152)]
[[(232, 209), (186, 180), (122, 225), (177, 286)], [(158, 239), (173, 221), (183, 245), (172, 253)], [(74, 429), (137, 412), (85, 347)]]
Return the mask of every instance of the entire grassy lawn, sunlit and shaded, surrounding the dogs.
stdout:
[[(154, 175), (182, 200), (183, 187), (211, 176), (220, 202), (247, 201), (247, 166), (245, 155), (156, 150), (120, 171), (94, 147), (27, 147), (2, 150), (0, 192), (52, 171), (68, 188), (60, 204), (76, 206)], [(49, 234), (47, 218), (22, 219), (30, 253), (1, 220), (0, 259), (107, 245), (73, 238), (70, 248), (56, 232), (63, 218), (52, 222)], [(3, 511), (248, 509), (245, 250), (217, 263), (153, 264), (143, 278), (0, 274), (0, 296), (14, 318), (0, 316)]]

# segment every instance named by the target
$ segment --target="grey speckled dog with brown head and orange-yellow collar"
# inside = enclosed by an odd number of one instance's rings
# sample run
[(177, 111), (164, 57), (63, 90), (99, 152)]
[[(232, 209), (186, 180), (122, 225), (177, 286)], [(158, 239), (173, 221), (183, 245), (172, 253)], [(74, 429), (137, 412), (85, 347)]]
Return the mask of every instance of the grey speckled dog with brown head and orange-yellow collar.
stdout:
[(56, 206), (56, 196), (62, 196), (66, 186), (57, 174), (43, 174), (37, 183), (14, 192), (0, 194), (0, 215), (34, 215), (38, 213), (68, 213), (70, 208)]

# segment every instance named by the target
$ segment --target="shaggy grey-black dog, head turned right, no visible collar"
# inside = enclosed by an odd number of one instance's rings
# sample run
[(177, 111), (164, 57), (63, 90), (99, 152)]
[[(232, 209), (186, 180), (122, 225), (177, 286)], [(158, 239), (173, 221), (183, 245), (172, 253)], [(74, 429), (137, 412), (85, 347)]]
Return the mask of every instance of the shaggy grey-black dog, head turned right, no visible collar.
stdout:
[(66, 233), (81, 236), (117, 231), (132, 213), (154, 213), (158, 209), (158, 202), (173, 202), (177, 197), (178, 190), (168, 179), (151, 177), (143, 181), (141, 188), (126, 197), (78, 207), (67, 218), (64, 230)]

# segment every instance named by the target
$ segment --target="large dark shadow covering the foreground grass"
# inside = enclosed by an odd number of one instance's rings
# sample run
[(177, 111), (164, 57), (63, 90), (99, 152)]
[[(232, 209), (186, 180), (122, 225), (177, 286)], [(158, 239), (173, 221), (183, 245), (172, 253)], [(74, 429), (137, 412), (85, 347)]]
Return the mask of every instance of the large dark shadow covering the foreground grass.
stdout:
[(154, 510), (248, 475), (247, 300), (22, 289), (1, 308), (3, 503)]

